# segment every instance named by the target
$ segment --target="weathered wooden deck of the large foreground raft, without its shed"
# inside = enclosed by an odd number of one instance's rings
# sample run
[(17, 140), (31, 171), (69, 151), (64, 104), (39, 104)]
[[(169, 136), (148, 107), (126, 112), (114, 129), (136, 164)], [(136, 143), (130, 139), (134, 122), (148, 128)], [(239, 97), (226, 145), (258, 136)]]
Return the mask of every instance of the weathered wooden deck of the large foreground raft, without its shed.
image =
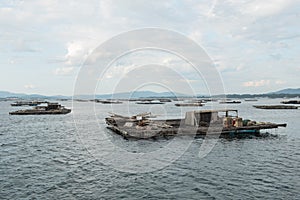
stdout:
[[(108, 129), (125, 138), (149, 139), (155, 137), (168, 137), (175, 135), (228, 135), (228, 134), (259, 134), (261, 129), (274, 129), (286, 127), (286, 124), (256, 124), (242, 127), (223, 127), (222, 123), (213, 123), (208, 126), (187, 126), (184, 120), (148, 120), (140, 126), (135, 119), (106, 118)], [(129, 123), (129, 124), (126, 124)]]

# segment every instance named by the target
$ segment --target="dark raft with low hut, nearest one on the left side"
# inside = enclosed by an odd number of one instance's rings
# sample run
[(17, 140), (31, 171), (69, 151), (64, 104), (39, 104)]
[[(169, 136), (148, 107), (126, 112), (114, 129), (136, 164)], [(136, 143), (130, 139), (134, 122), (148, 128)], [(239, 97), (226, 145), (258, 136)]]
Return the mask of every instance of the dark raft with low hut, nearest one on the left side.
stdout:
[(10, 112), (10, 115), (58, 115), (68, 114), (71, 109), (67, 109), (58, 103), (47, 103), (46, 106), (36, 106), (34, 109), (18, 110)]

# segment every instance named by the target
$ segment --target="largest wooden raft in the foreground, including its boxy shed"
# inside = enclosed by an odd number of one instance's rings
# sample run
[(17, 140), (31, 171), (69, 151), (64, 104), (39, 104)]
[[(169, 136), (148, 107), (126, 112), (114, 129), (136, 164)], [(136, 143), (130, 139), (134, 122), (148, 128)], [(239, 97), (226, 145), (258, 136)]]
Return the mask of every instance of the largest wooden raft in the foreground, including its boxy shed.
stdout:
[[(229, 113), (235, 113), (234, 116)], [(132, 117), (111, 114), (107, 128), (124, 138), (150, 139), (176, 135), (261, 136), (261, 129), (286, 127), (287, 124), (257, 123), (238, 117), (237, 110), (190, 111), (183, 119), (154, 120), (151, 113)]]

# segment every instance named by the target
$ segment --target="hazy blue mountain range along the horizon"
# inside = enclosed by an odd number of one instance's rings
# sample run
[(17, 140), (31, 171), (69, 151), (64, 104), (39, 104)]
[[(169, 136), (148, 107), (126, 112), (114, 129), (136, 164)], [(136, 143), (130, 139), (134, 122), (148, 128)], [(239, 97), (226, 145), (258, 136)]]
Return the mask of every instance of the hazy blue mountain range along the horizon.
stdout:
[[(238, 94), (229, 94), (228, 97), (282, 97), (284, 95), (290, 96), (300, 96), (300, 88), (288, 88), (279, 90), (276, 92), (270, 92), (267, 94), (246, 94), (245, 95), (238, 95)], [(158, 98), (158, 97), (188, 97), (189, 95), (181, 94), (181, 93), (172, 93), (172, 92), (152, 92), (152, 91), (134, 91), (134, 92), (123, 92), (123, 93), (115, 93), (115, 94), (103, 94), (103, 95), (80, 95), (76, 98), (78, 99), (129, 99), (129, 98)], [(197, 96), (205, 96), (205, 95), (197, 95)], [(24, 93), (12, 93), (7, 91), (0, 91), (0, 98), (21, 98), (21, 99), (71, 99), (72, 96), (45, 96), (39, 94), (24, 94)]]

